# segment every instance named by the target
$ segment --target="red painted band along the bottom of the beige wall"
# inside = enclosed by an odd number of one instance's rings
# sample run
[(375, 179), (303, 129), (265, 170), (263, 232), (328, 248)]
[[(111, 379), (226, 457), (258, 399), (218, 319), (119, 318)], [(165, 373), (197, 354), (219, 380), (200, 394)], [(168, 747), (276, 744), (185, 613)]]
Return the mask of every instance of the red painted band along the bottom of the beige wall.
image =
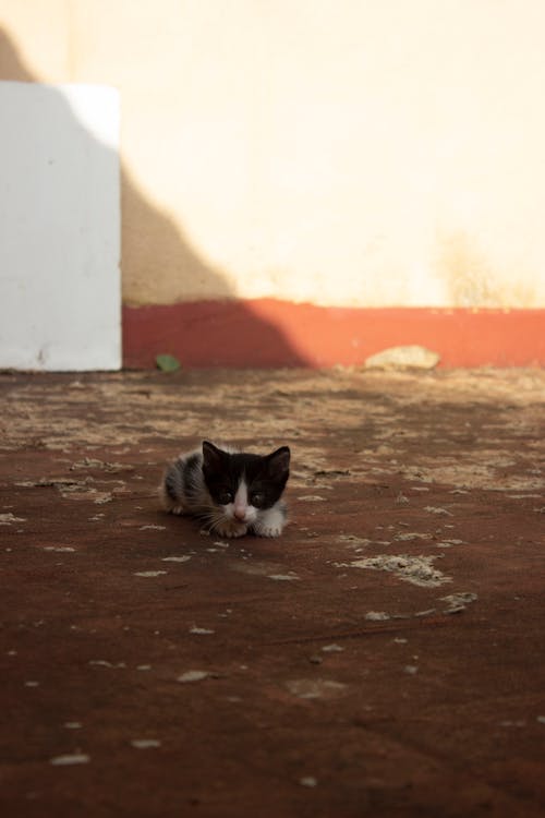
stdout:
[(545, 310), (364, 309), (272, 299), (123, 308), (123, 364), (183, 366), (362, 364), (387, 347), (422, 345), (440, 365), (545, 365)]

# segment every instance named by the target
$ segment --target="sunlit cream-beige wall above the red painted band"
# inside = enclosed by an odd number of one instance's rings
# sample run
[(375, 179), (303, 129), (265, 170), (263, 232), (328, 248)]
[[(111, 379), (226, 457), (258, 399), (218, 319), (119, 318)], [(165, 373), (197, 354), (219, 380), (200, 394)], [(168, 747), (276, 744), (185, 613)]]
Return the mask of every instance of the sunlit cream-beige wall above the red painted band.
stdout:
[(121, 92), (126, 302), (545, 306), (543, 0), (4, 0), (0, 22), (2, 79)]

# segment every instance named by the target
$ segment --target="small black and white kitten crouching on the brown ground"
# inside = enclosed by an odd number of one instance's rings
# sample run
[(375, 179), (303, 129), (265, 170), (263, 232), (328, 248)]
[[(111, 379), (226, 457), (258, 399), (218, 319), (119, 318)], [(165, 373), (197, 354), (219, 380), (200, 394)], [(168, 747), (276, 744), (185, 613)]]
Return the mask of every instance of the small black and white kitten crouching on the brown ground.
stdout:
[(251, 455), (203, 441), (202, 450), (180, 455), (159, 486), (172, 514), (189, 514), (220, 537), (278, 537), (287, 520), (281, 500), (290, 474), (290, 449)]

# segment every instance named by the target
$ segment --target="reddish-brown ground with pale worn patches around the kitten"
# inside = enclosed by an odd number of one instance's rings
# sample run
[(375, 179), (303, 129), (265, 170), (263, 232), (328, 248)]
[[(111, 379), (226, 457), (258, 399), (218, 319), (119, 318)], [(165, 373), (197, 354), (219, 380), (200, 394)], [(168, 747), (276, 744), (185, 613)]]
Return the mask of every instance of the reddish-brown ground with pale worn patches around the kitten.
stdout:
[[(7, 818), (545, 815), (545, 371), (0, 375)], [(203, 437), (291, 521), (164, 514)]]

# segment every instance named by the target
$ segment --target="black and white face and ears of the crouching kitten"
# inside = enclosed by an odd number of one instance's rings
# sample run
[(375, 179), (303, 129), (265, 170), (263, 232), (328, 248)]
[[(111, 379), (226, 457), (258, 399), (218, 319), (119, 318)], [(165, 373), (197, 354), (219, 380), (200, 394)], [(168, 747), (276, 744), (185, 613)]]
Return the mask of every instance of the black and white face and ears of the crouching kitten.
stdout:
[(280, 500), (289, 465), (288, 446), (262, 456), (232, 454), (203, 443), (203, 474), (211, 498), (228, 519), (245, 525)]

